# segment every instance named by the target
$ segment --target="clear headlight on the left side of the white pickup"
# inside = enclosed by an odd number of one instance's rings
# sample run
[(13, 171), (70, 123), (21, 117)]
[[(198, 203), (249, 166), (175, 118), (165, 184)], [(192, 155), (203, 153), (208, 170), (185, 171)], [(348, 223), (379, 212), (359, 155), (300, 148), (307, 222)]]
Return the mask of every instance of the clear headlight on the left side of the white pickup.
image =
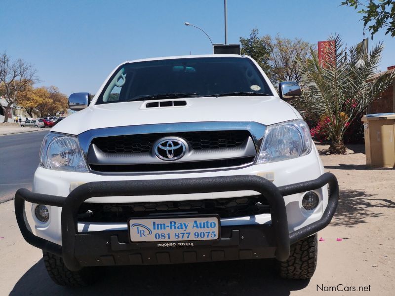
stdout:
[(42, 141), (40, 166), (57, 171), (88, 172), (78, 138), (57, 133), (48, 133)]

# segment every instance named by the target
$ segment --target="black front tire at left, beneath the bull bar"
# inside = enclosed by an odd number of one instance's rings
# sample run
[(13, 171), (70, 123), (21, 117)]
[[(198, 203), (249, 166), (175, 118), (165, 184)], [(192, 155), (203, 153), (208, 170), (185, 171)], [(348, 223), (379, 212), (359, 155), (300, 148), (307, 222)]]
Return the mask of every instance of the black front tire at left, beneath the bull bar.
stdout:
[(69, 287), (84, 287), (97, 280), (97, 267), (83, 267), (78, 271), (71, 271), (59, 256), (42, 251), (45, 268), (55, 284)]

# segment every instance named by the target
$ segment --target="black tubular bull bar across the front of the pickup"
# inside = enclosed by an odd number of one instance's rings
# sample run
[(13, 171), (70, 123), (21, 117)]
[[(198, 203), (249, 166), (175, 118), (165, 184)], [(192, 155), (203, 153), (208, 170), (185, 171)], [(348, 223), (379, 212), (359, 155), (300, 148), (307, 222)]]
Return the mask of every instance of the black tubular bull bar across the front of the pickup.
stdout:
[[(329, 198), (321, 219), (289, 233), (283, 196), (315, 190), (326, 184), (329, 185)], [(105, 181), (80, 185), (70, 192), (67, 197), (33, 193), (26, 188), (21, 188), (15, 194), (15, 215), (21, 233), (29, 244), (61, 256), (70, 270), (79, 270), (81, 266), (74, 256), (75, 237), (78, 235), (77, 214), (80, 205), (86, 199), (100, 196), (170, 195), (238, 190), (257, 191), (264, 195), (270, 203), (271, 227), (273, 227), (272, 230), (276, 241), (276, 259), (280, 261), (289, 258), (291, 244), (313, 235), (329, 224), (336, 211), (339, 199), (339, 185), (336, 177), (331, 173), (324, 173), (315, 180), (279, 187), (267, 179), (253, 175), (168, 180)], [(28, 229), (24, 219), (25, 200), (31, 203), (62, 207), (62, 246), (42, 239)]]

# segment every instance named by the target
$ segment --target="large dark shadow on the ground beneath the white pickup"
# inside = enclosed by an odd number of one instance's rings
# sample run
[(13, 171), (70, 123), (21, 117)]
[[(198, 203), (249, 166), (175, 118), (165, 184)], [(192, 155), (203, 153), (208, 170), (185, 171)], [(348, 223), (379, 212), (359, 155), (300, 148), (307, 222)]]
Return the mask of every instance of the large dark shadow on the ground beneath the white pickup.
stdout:
[(55, 285), (42, 259), (16, 283), (10, 295), (273, 295), (287, 296), (309, 280), (283, 280), (274, 260), (241, 260), (108, 268), (103, 279), (79, 289)]

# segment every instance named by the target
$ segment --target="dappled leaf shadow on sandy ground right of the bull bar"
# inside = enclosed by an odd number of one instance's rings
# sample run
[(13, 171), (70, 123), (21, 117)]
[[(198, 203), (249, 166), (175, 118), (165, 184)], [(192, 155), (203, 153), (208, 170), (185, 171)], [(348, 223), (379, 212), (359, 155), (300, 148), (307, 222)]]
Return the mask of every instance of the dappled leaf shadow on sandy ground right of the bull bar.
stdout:
[(395, 209), (394, 201), (374, 196), (364, 191), (340, 189), (339, 204), (331, 225), (354, 227), (366, 223), (368, 218), (383, 215), (383, 213), (373, 213), (371, 211), (373, 207)]

